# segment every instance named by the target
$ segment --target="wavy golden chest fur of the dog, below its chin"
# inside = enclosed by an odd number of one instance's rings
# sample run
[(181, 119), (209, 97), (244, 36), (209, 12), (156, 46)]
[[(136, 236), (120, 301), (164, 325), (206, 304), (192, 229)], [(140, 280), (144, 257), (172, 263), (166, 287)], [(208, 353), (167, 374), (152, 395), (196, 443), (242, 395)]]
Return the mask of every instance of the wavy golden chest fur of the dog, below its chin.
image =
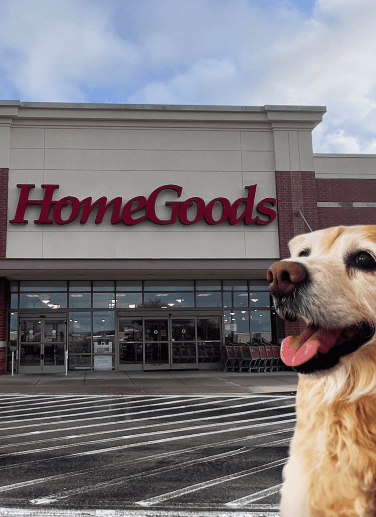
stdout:
[[(300, 376), (296, 429), (284, 470), (285, 501), (294, 499), (290, 492), (300, 491), (296, 499), (306, 493), (294, 517), (375, 516), (376, 397), (324, 402), (325, 379), (318, 383), (304, 377)], [(290, 516), (287, 508), (281, 512)]]

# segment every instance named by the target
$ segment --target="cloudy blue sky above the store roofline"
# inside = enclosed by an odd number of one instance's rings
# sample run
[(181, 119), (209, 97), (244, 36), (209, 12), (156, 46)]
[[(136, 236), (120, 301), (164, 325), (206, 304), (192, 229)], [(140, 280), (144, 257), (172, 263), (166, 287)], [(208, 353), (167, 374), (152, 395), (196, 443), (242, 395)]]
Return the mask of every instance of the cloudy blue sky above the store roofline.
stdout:
[(376, 154), (374, 0), (0, 0), (0, 99), (326, 106)]

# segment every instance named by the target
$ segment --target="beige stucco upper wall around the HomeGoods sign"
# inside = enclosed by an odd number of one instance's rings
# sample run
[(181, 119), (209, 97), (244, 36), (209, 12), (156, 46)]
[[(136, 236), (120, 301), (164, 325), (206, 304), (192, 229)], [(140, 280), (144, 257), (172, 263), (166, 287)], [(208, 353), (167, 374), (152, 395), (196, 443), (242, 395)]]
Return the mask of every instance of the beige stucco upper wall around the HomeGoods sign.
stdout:
[[(183, 187), (179, 201), (227, 197), (232, 203), (246, 195), (244, 186), (257, 184), (256, 206), (276, 197), (275, 170), (312, 170), (311, 129), (322, 117), (318, 109), (308, 117), (295, 108), (272, 107), (249, 113), (241, 108), (115, 110), (116, 116), (92, 109), (83, 118), (81, 109), (68, 113), (68, 107), (42, 110), (40, 105), (21, 107), (10, 126), (8, 219), (17, 206), (16, 186), (23, 183), (37, 186), (32, 199), (41, 199), (41, 184), (53, 183), (60, 185), (54, 199), (105, 195), (107, 200), (121, 196), (124, 203), (136, 195), (148, 197), (164, 184)], [(161, 219), (169, 218), (166, 200), (175, 201), (176, 194), (159, 197)], [(91, 216), (86, 224), (58, 226), (35, 224), (38, 214), (28, 207), (28, 224), (8, 224), (8, 258), (279, 256), (276, 220), (264, 226), (205, 221), (126, 226), (111, 225), (107, 215), (101, 224)]]

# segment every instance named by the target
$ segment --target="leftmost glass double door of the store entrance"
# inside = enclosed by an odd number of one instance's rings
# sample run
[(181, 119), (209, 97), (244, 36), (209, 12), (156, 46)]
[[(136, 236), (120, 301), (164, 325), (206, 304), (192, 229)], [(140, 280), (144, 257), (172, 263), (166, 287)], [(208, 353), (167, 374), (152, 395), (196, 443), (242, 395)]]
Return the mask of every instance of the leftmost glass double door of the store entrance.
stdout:
[(66, 349), (66, 318), (20, 318), (19, 372), (64, 372)]

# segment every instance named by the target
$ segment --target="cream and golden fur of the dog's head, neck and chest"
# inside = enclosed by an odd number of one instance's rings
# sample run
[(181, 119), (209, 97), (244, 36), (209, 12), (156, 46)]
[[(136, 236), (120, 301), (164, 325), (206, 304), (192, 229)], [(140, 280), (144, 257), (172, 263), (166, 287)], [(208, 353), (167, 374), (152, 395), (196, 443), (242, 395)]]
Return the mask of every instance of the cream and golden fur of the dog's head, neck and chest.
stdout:
[[(304, 249), (309, 255), (299, 256)], [(314, 280), (306, 322), (376, 327), (376, 271), (346, 266), (354, 250), (376, 257), (376, 226), (340, 226), (292, 239), (287, 260), (303, 264)], [(375, 516), (376, 335), (334, 368), (300, 373), (296, 413), (281, 515)]]

